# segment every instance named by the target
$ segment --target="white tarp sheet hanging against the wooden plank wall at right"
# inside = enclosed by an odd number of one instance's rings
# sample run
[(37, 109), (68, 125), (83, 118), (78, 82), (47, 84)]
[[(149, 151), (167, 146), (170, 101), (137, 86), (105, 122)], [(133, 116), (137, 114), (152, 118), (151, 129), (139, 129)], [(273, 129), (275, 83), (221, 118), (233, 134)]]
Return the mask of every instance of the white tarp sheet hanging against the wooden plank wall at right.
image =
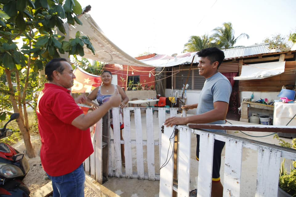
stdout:
[(285, 62), (243, 65), (241, 67), (241, 76), (234, 77), (234, 80), (263, 79), (281, 74), (285, 71)]

